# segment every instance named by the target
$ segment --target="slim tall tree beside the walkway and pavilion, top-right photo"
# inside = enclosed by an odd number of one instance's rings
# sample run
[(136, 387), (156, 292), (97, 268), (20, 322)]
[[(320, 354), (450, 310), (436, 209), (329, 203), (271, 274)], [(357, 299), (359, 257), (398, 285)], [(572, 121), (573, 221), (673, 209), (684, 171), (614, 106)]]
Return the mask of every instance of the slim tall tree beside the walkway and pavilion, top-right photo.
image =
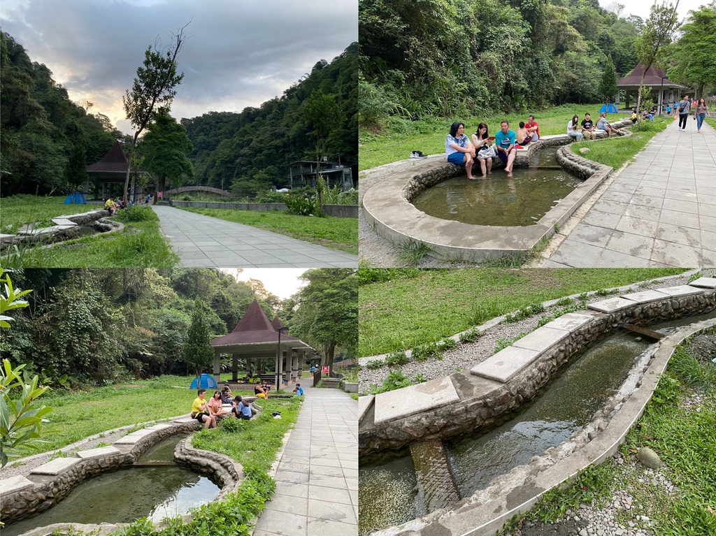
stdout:
[(637, 109), (641, 109), (642, 106), (642, 89), (644, 89), (644, 77), (647, 76), (647, 70), (662, 56), (664, 47), (672, 42), (674, 32), (679, 29), (679, 19), (676, 13), (678, 7), (679, 0), (676, 0), (676, 4), (667, 0), (662, 0), (661, 4), (654, 1), (649, 19), (644, 22), (642, 35), (634, 44), (639, 62), (642, 62), (642, 67), (644, 67), (642, 79), (639, 81)]

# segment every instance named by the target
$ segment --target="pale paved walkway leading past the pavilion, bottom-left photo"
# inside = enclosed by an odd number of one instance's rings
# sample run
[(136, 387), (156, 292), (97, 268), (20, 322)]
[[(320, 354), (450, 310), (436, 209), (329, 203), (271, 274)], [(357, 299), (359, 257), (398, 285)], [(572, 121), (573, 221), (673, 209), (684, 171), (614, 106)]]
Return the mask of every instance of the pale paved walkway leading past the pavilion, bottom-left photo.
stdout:
[(358, 402), (308, 385), (253, 536), (358, 535)]

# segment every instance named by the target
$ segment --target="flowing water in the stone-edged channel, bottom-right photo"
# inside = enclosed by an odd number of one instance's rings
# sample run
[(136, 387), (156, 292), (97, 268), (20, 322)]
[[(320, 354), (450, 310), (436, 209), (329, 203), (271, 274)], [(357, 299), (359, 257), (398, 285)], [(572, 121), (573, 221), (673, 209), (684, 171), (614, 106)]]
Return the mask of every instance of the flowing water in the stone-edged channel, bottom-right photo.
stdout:
[[(649, 328), (670, 334), (679, 326), (715, 317), (716, 311), (712, 311)], [(443, 442), (460, 497), (484, 489), (495, 477), (566, 442), (591, 422), (651, 342), (621, 328), (606, 334), (579, 351), (503, 424)], [(410, 447), (361, 459), (358, 489), (359, 535), (428, 513), (418, 491)]]

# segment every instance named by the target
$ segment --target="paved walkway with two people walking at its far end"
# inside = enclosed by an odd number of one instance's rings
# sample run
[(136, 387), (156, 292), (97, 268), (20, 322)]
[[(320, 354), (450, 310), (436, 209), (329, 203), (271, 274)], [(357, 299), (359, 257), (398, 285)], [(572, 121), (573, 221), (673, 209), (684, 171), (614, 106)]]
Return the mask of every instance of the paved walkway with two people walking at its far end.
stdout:
[(545, 268), (716, 266), (716, 132), (673, 121), (609, 185)]

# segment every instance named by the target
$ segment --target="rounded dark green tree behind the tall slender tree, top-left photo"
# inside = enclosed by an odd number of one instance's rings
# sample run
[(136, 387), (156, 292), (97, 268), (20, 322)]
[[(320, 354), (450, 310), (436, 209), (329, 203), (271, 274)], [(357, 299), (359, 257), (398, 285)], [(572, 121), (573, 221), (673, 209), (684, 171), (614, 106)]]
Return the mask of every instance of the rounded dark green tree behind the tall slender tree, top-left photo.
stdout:
[(160, 107), (147, 130), (137, 154), (143, 157), (142, 165), (156, 175), (158, 191), (164, 190), (167, 182), (180, 183), (183, 177), (194, 174), (189, 160), (194, 147), (186, 135), (186, 127), (176, 122), (168, 109)]

